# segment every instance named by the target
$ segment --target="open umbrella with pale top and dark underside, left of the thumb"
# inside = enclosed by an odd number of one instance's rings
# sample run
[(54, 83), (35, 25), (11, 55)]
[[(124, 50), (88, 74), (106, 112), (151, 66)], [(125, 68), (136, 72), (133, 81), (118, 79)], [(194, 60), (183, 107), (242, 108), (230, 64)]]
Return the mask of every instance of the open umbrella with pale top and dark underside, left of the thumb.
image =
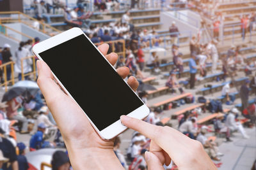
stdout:
[(39, 87), (35, 81), (29, 81), (29, 80), (19, 81), (15, 83), (15, 85), (13, 85), (13, 87), (4, 94), (2, 102), (10, 101), (13, 98), (20, 95), (25, 97), (35, 96), (38, 90), (39, 90)]

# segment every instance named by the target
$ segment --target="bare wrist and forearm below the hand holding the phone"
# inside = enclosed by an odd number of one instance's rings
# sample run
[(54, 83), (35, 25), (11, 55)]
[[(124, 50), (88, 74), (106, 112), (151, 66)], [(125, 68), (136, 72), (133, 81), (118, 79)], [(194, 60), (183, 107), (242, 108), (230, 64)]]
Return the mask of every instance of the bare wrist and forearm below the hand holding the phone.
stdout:
[(76, 148), (67, 143), (68, 156), (76, 169), (124, 169), (112, 149)]

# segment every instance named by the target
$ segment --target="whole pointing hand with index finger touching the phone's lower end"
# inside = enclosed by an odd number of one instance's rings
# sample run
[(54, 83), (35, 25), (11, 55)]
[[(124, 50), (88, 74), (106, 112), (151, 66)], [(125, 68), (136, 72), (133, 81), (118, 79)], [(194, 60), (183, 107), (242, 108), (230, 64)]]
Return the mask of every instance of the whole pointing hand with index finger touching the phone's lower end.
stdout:
[(171, 159), (179, 169), (217, 169), (199, 141), (172, 127), (156, 126), (127, 116), (121, 116), (121, 122), (151, 139), (150, 150), (145, 153), (149, 170), (163, 170), (163, 164), (168, 166)]

